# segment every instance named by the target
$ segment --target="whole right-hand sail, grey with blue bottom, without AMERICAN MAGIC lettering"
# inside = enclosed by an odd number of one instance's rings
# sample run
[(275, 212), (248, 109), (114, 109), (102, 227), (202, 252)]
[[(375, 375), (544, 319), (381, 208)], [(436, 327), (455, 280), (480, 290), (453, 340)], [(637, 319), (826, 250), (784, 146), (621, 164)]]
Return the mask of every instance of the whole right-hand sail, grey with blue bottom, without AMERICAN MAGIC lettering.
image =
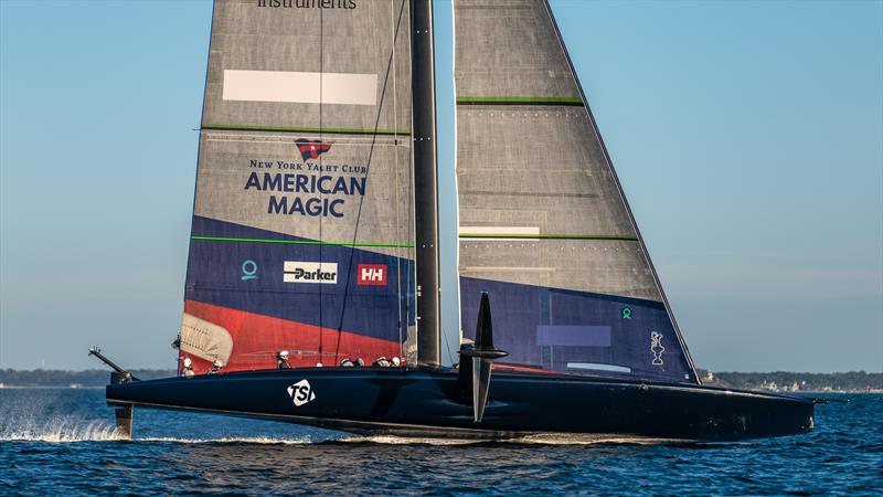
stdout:
[(544, 0), (455, 0), (459, 283), (498, 363), (698, 382)]

